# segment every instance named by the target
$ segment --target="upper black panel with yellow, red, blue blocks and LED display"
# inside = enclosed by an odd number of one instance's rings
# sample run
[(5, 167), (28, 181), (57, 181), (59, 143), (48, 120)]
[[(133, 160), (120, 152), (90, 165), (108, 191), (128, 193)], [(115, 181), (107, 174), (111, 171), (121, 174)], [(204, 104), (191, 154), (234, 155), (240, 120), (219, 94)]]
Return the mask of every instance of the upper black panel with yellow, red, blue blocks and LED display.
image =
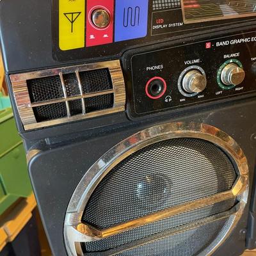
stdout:
[(243, 25), (255, 20), (256, 0), (243, 1), (243, 10), (227, 2), (227, 11), (214, 0), (54, 0), (52, 53), (58, 61), (120, 56), (131, 47), (173, 36)]

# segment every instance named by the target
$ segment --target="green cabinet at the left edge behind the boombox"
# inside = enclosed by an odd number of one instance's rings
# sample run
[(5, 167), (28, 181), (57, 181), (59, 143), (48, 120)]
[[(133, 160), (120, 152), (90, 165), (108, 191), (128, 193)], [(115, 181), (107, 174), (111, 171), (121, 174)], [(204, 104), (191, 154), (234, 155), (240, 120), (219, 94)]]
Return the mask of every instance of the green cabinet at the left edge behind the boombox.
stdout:
[(26, 154), (11, 108), (0, 111), (0, 215), (20, 197), (31, 194)]

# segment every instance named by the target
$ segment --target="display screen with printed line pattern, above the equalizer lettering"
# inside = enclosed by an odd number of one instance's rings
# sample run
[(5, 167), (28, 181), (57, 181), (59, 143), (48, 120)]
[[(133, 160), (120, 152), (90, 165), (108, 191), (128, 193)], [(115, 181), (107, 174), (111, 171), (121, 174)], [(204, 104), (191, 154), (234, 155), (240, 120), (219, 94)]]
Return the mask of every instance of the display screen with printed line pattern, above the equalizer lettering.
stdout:
[(182, 0), (185, 23), (256, 15), (256, 0)]

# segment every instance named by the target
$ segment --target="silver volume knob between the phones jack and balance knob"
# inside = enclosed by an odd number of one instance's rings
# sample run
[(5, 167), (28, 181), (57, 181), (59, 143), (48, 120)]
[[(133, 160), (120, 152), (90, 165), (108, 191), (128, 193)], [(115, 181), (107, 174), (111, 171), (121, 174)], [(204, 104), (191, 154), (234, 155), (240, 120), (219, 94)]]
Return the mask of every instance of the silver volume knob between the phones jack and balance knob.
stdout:
[(196, 70), (189, 71), (183, 78), (182, 86), (188, 93), (200, 93), (206, 88), (207, 80)]

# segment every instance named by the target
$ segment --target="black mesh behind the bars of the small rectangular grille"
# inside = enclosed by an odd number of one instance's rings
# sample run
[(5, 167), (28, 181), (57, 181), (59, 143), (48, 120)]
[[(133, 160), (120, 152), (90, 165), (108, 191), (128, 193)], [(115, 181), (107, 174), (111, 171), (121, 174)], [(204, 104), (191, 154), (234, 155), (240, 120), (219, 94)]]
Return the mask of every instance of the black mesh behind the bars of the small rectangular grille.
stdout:
[[(81, 115), (83, 113), (83, 103), (86, 113), (113, 108), (114, 94), (111, 92), (104, 95), (92, 95), (92, 97), (86, 97), (86, 99), (81, 97), (81, 93), (95, 93), (113, 89), (108, 68), (79, 72), (79, 77), (83, 92), (79, 89), (76, 73), (63, 74), (70, 116)], [(31, 103), (42, 103), (42, 106), (33, 107), (36, 122), (67, 118), (68, 112), (65, 102), (46, 104), (48, 100), (64, 99), (60, 76), (30, 79), (27, 84)], [(81, 97), (81, 99), (68, 99), (70, 97)]]

